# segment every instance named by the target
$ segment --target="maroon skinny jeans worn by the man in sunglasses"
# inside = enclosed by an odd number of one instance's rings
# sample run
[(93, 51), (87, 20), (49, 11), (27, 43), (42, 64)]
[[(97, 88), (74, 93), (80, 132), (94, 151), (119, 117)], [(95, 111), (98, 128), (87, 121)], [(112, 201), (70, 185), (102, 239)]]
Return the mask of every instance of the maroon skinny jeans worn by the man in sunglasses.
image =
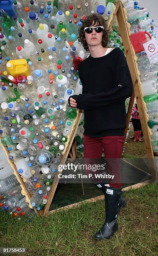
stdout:
[[(122, 187), (122, 177), (120, 168), (120, 159), (122, 156), (124, 136), (104, 136), (92, 138), (84, 135), (84, 164), (99, 163), (102, 158), (102, 149), (105, 156), (105, 172), (114, 175), (114, 179), (110, 180), (110, 187)], [(95, 159), (95, 160), (94, 160)], [(86, 174), (92, 174), (92, 170), (86, 170)], [(95, 174), (100, 174), (100, 170)], [(94, 180), (93, 180), (94, 181)], [(94, 181), (99, 183), (99, 179)]]

